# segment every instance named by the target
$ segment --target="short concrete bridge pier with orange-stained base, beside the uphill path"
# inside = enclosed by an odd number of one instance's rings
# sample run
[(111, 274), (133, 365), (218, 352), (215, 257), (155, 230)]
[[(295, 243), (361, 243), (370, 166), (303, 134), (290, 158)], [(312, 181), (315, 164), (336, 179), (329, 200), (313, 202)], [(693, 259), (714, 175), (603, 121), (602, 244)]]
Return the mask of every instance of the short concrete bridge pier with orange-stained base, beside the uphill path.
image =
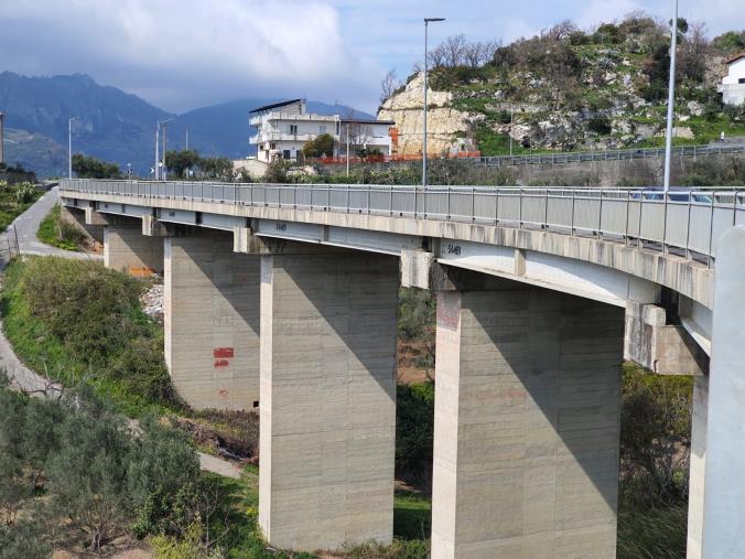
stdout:
[(142, 221), (104, 227), (104, 264), (132, 276), (163, 273), (163, 239), (142, 235)]

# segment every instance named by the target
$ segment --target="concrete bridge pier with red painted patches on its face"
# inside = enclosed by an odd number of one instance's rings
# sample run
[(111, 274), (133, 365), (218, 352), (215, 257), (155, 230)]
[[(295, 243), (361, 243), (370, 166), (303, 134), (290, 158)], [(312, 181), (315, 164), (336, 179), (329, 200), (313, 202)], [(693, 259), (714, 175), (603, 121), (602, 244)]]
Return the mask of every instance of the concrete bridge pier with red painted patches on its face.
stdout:
[(233, 235), (165, 238), (165, 362), (190, 406), (259, 404), (260, 259), (233, 251)]

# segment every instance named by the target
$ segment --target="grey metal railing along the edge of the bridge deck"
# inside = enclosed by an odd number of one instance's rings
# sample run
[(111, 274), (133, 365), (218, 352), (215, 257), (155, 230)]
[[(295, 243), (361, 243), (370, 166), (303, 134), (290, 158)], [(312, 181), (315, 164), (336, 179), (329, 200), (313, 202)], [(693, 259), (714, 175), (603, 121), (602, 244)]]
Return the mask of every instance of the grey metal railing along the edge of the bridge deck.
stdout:
[(61, 181), (61, 195), (122, 195), (143, 205), (192, 200), (242, 206), (314, 209), (450, 221), (594, 236), (672, 251), (711, 265), (716, 239), (745, 223), (745, 190), (241, 184), (213, 182)]

